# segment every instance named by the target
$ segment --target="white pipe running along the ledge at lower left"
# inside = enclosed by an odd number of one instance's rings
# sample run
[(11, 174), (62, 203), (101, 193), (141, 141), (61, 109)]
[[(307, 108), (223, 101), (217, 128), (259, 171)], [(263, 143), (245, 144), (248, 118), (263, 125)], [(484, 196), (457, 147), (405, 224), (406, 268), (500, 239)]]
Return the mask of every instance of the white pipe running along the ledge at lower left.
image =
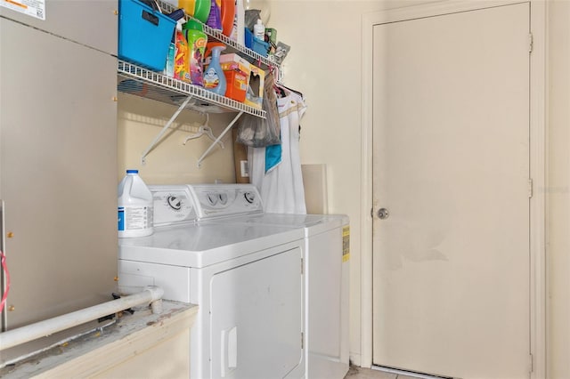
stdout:
[[(102, 304), (97, 304), (83, 310), (76, 310), (53, 319), (45, 319), (44, 321), (25, 327), (8, 330), (4, 333), (0, 333), (0, 351), (21, 343), (28, 343), (29, 341), (45, 337), (46, 335), (53, 335), (69, 327), (77, 327), (77, 325), (85, 324), (85, 322), (99, 319), (117, 313), (120, 310), (126, 310), (144, 303), (151, 302), (153, 312), (160, 312), (162, 309), (160, 299), (163, 294), (164, 290), (159, 286), (147, 286), (138, 294), (130, 294), (120, 299), (103, 302)], [(160, 303), (154, 304), (154, 302)]]

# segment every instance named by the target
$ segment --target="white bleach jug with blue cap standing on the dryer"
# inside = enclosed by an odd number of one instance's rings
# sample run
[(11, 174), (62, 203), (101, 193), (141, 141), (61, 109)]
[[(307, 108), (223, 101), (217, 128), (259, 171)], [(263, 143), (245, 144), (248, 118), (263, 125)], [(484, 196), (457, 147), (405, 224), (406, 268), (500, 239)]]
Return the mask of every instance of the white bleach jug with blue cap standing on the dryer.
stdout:
[(152, 193), (138, 170), (126, 170), (118, 184), (118, 237), (150, 236), (152, 228)]

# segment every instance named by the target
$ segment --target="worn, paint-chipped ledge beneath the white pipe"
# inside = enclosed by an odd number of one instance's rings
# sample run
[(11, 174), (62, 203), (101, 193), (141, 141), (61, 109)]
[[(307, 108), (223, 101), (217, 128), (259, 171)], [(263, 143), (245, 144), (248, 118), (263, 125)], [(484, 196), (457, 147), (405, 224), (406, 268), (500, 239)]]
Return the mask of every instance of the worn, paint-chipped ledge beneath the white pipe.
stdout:
[(198, 306), (183, 302), (162, 303), (160, 314), (152, 314), (150, 307), (135, 307), (134, 314), (123, 312), (108, 327), (98, 328), (2, 368), (0, 376), (9, 379), (101, 375), (110, 367), (190, 329)]

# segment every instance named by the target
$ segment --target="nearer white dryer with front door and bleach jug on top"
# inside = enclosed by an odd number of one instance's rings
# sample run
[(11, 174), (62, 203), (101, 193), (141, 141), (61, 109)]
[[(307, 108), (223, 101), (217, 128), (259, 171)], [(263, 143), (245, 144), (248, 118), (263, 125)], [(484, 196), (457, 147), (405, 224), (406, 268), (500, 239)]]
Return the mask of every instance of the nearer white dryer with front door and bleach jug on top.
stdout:
[[(222, 222), (259, 212), (248, 188), (216, 193), (208, 210), (194, 205), (189, 186), (151, 191), (155, 231), (119, 239), (119, 288), (161, 286), (165, 299), (199, 305), (191, 377), (305, 377), (304, 230)], [(219, 222), (197, 223), (197, 214)]]

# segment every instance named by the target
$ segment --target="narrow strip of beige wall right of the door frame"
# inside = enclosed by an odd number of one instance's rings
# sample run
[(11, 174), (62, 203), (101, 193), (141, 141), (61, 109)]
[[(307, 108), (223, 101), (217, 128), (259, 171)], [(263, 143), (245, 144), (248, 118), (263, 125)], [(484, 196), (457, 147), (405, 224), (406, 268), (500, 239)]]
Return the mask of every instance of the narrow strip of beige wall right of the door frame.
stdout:
[(549, 4), (548, 373), (570, 378), (570, 1)]

